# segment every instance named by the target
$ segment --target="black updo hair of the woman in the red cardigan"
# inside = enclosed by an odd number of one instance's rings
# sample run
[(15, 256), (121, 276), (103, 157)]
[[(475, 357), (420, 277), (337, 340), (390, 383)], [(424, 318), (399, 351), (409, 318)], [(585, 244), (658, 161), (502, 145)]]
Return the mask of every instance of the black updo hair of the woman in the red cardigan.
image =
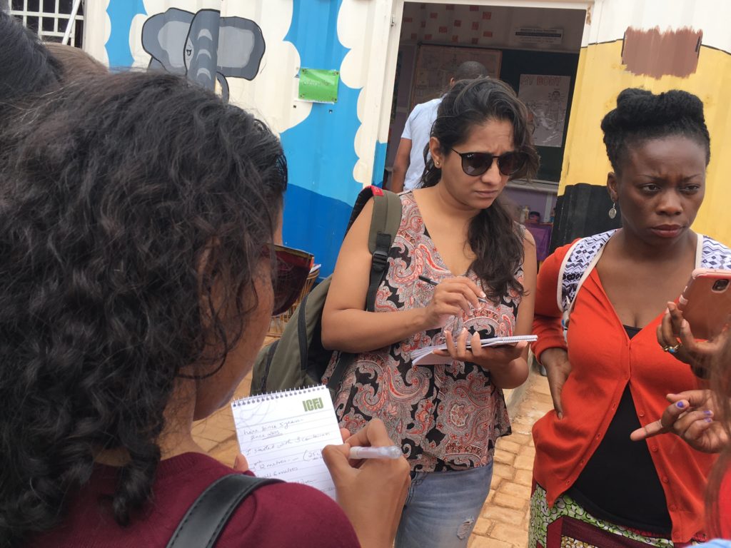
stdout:
[(633, 145), (680, 135), (705, 148), (705, 164), (711, 161), (711, 136), (705, 126), (703, 102), (687, 91), (674, 89), (662, 94), (626, 88), (617, 96), (617, 107), (602, 120), (607, 156), (616, 173)]

